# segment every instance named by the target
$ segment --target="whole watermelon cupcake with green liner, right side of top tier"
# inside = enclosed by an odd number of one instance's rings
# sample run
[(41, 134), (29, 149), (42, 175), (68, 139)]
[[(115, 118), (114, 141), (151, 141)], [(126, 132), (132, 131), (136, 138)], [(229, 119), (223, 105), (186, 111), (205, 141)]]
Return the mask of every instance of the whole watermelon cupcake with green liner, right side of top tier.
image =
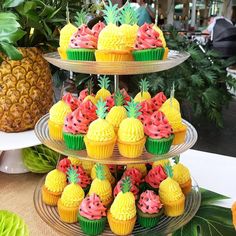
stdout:
[(132, 52), (135, 61), (162, 60), (165, 49), (159, 38), (159, 33), (150, 24), (143, 24), (139, 30)]

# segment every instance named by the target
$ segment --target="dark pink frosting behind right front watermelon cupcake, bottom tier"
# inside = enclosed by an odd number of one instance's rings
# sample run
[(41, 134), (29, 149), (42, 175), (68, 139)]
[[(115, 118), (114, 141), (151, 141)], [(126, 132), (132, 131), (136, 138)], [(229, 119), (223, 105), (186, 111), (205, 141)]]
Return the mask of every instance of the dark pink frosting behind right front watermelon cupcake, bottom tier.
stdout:
[(145, 177), (146, 183), (153, 188), (159, 188), (160, 183), (167, 178), (162, 166), (152, 168)]

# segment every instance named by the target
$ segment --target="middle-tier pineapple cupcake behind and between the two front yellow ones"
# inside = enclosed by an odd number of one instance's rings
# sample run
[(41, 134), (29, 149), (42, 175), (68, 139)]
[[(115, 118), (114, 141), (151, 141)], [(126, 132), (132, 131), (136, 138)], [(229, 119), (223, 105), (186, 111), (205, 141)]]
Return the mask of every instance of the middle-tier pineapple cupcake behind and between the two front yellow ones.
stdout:
[(115, 132), (118, 132), (120, 123), (127, 118), (126, 109), (123, 107), (124, 97), (120, 91), (115, 94), (115, 106), (113, 106), (106, 116), (106, 120), (113, 125)]

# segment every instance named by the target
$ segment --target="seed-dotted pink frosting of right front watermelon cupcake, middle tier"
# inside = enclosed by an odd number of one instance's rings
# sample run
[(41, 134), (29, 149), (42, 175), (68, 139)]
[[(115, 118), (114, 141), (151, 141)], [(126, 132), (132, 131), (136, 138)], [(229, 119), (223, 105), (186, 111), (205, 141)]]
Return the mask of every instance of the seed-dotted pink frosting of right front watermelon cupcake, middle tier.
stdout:
[(153, 139), (168, 138), (172, 134), (172, 128), (161, 111), (156, 111), (151, 116), (151, 121), (144, 122), (144, 132)]

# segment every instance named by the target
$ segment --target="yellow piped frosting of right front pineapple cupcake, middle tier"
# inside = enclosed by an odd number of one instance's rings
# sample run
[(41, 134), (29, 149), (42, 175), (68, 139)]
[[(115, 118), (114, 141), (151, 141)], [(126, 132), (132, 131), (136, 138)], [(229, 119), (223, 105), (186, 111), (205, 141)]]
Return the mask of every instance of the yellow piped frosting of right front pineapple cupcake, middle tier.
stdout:
[(137, 142), (144, 137), (143, 124), (133, 117), (126, 118), (120, 123), (118, 137), (123, 142)]

